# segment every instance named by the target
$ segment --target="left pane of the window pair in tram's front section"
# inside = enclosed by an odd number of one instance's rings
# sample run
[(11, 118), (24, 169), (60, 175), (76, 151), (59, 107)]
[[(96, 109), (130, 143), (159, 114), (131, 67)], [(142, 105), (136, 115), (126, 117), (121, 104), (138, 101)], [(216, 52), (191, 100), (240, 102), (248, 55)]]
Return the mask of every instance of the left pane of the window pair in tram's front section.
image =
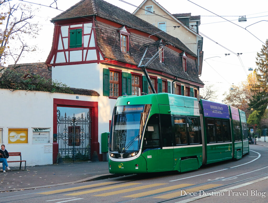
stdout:
[(176, 145), (187, 144), (185, 117), (174, 117)]

